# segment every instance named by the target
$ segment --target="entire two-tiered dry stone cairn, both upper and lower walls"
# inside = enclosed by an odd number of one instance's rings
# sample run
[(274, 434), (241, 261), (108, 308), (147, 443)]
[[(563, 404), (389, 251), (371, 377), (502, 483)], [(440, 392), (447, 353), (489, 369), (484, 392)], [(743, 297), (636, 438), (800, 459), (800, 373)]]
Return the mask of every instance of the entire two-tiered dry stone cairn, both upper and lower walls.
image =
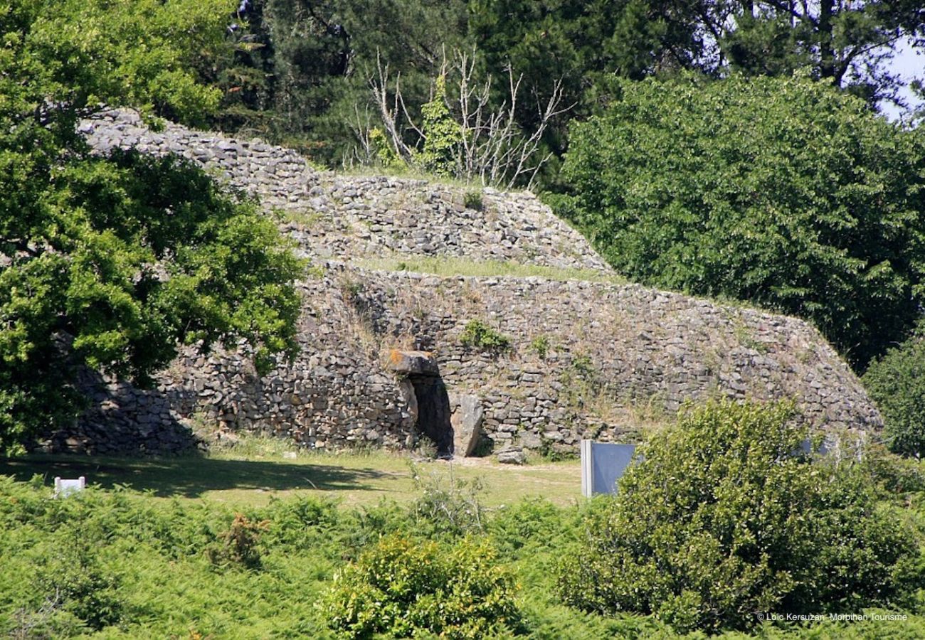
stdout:
[[(359, 258), (426, 255), (610, 273), (586, 240), (529, 193), (424, 180), (342, 177), (292, 152), (133, 113), (81, 124), (100, 152), (136, 145), (218, 169), (259, 196), (320, 267), (302, 283), (301, 351), (257, 377), (243, 349), (184, 351), (140, 391), (88, 375), (93, 407), (57, 449), (177, 451), (202, 425), (291, 437), (318, 449), (414, 446), (416, 403), (391, 350), (430, 351), (450, 398), (475, 396), (497, 445), (574, 452), (582, 437), (632, 440), (685, 400), (790, 398), (825, 427), (877, 428), (857, 378), (795, 318), (612, 282), (436, 277), (373, 271)], [(275, 210), (275, 213), (273, 213)], [(510, 349), (463, 344), (473, 321)]]

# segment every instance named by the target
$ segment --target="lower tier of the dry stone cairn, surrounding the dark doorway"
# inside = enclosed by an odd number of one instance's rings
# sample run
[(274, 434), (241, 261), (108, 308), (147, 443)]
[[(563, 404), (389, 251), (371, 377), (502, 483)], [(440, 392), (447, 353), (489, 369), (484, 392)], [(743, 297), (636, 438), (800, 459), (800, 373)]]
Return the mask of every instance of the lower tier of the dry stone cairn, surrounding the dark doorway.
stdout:
[[(481, 401), (483, 436), (499, 444), (573, 452), (582, 437), (632, 441), (653, 414), (721, 396), (793, 399), (821, 427), (881, 424), (847, 365), (795, 318), (635, 285), (325, 266), (303, 288), (294, 362), (259, 379), (246, 353), (188, 352), (158, 378), (169, 418), (163, 404), (149, 415), (154, 405), (134, 400), (125, 420), (148, 431), (218, 423), (316, 448), (410, 447), (413, 400), (387, 359), (419, 349), (432, 352), (450, 394)], [(472, 320), (511, 349), (463, 345)]]

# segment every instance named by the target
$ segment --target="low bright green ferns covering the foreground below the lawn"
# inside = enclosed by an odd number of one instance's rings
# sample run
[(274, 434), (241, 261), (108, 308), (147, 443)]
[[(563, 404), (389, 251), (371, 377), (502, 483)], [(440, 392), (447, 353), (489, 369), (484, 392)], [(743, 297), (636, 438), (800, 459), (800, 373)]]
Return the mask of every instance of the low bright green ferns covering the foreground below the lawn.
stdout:
[[(887, 455), (891, 461), (912, 462)], [(287, 464), (263, 459), (261, 463), (271, 468)], [(159, 463), (149, 464), (156, 467)], [(178, 475), (183, 483), (189, 481), (173, 467), (162, 468), (160, 473), (168, 486), (178, 486)], [(265, 472), (264, 482), (272, 484), (269, 478), (276, 473)], [(879, 477), (885, 475), (878, 472)], [(260, 485), (260, 480), (248, 477), (249, 485)], [(254, 490), (255, 495), (260, 493)], [(925, 494), (894, 494), (893, 498), (904, 518), (925, 531)], [(240, 511), (248, 523), (266, 523), (253, 544), (260, 555), (260, 570), (241, 571), (239, 562), (214, 563), (209, 558), (210, 550), (224, 548), (235, 519), (235, 512), (223, 500), (157, 498), (122, 486), (109, 491), (92, 486), (80, 495), (56, 499), (51, 488), (43, 486), (41, 476), (31, 483), (0, 477), (0, 528), (4, 532), (0, 535), (4, 559), (0, 635), (330, 638), (335, 631), (327, 627), (326, 611), (317, 603), (342, 585), (333, 576), (345, 562), (360, 559), (364, 552), (381, 555), (372, 549), (386, 536), (403, 539), (412, 554), (419, 545), (436, 545), (438, 556), (450, 564), (450, 554), (459, 548), (461, 539), (431, 530), (430, 522), (415, 515), (413, 507), (394, 502), (354, 509), (304, 496), (271, 498), (265, 507)], [(508, 576), (496, 585), (510, 586), (516, 577), (517, 611), (512, 620), (496, 626), (497, 635), (549, 640), (677, 637), (652, 616), (619, 613), (604, 617), (566, 607), (556, 596), (560, 577), (555, 568), (563, 549), (582, 544), (586, 519), (607, 507), (606, 501), (598, 499), (562, 508), (532, 498), (487, 514), (483, 533), (471, 534), (467, 544), (471, 548), (485, 545), (498, 554), (471, 562), (453, 560), (452, 571), (477, 565), (473, 573), (484, 577), (494, 567), (496, 577), (500, 573)], [(438, 540), (426, 540), (435, 533)], [(473, 550), (472, 555), (477, 552)], [(400, 575), (417, 566), (394, 564), (382, 575)], [(403, 588), (395, 586), (396, 591)], [(463, 593), (467, 590), (469, 596)], [(489, 605), (488, 598), (472, 596), (475, 591), (460, 588), (454, 596), (444, 590), (439, 597), (447, 601), (459, 596), (457, 603), (469, 599), (475, 602), (476, 612), (487, 615), (497, 611), (497, 601)], [(511, 591), (495, 589), (493, 593)], [(909, 614), (906, 622), (765, 624), (756, 631), (767, 638), (861, 640), (889, 634), (912, 640), (925, 629), (916, 614), (919, 608), (920, 604), (910, 602), (902, 609)], [(419, 636), (430, 633), (417, 632)], [(743, 634), (722, 637), (741, 639)]]

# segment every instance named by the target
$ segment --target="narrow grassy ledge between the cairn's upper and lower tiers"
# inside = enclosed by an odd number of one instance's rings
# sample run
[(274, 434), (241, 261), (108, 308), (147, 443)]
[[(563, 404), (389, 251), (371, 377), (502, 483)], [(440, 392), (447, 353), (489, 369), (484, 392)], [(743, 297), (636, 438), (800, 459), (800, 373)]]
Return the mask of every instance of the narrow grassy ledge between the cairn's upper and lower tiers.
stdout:
[(545, 277), (550, 280), (585, 280), (622, 285), (626, 278), (608, 271), (584, 268), (564, 268), (522, 265), (510, 261), (475, 261), (455, 257), (393, 255), (386, 258), (364, 258), (354, 264), (375, 271), (412, 271), (439, 277)]

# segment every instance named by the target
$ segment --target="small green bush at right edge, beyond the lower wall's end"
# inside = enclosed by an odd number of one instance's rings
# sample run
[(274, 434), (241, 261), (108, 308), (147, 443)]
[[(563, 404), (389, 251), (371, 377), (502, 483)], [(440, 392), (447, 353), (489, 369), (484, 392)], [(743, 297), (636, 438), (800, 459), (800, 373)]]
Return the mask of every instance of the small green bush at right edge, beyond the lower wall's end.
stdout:
[(925, 455), (925, 326), (870, 363), (862, 379), (883, 416), (890, 450)]

